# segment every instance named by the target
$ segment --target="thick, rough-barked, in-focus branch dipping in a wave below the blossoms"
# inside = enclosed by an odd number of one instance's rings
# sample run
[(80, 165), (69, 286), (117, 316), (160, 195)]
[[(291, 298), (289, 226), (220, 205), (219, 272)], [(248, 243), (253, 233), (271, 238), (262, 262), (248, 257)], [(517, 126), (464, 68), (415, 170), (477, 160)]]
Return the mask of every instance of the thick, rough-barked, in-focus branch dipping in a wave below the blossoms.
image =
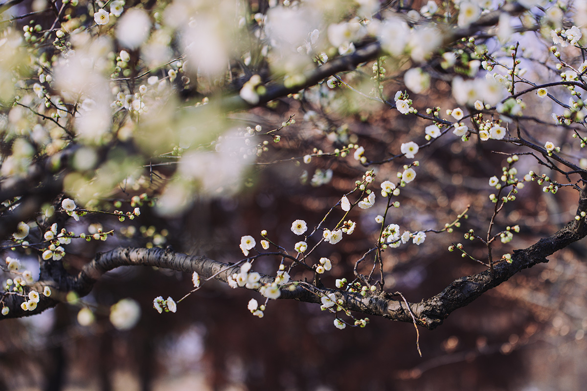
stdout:
[[(583, 187), (580, 197), (579, 210), (582, 210), (585, 207), (585, 199), (587, 199), (587, 186)], [(495, 264), (493, 272), (485, 270), (473, 276), (458, 278), (436, 296), (419, 303), (410, 303), (410, 309), (417, 319), (417, 324), (429, 329), (438, 327), (457, 308), (470, 304), (481, 294), (507, 281), (519, 271), (538, 263), (548, 262), (547, 256), (583, 239), (586, 235), (585, 225), (577, 224), (573, 220), (552, 236), (541, 239), (526, 249), (515, 250), (511, 257), (511, 263), (502, 261)], [(58, 281), (41, 281), (33, 285), (31, 288), (38, 291), (42, 291), (45, 285), (55, 291), (55, 294), (50, 298), (42, 297), (34, 311), (21, 310), (20, 304), (23, 298), (16, 295), (6, 295), (4, 304), (9, 307), (10, 312), (4, 318), (38, 314), (47, 308), (54, 307), (59, 301), (63, 301), (69, 291), (75, 291), (80, 296), (85, 296), (90, 293), (93, 285), (104, 273), (120, 266), (156, 266), (186, 273), (197, 271), (202, 278), (211, 277), (225, 283), (228, 282), (229, 276), (240, 271), (240, 267), (237, 265), (225, 264), (204, 256), (189, 256), (159, 248), (118, 247), (106, 253), (97, 254), (96, 258), (87, 264), (77, 276), (63, 276)], [(261, 284), (271, 284), (274, 281), (274, 277), (262, 275), (260, 282)], [(329, 293), (335, 293), (336, 297), (342, 300), (343, 307), (348, 310), (397, 321), (413, 322), (403, 300), (396, 300), (390, 294), (363, 297), (360, 293), (318, 288), (309, 283), (294, 281), (282, 285), (280, 298), (320, 303), (322, 295)]]

